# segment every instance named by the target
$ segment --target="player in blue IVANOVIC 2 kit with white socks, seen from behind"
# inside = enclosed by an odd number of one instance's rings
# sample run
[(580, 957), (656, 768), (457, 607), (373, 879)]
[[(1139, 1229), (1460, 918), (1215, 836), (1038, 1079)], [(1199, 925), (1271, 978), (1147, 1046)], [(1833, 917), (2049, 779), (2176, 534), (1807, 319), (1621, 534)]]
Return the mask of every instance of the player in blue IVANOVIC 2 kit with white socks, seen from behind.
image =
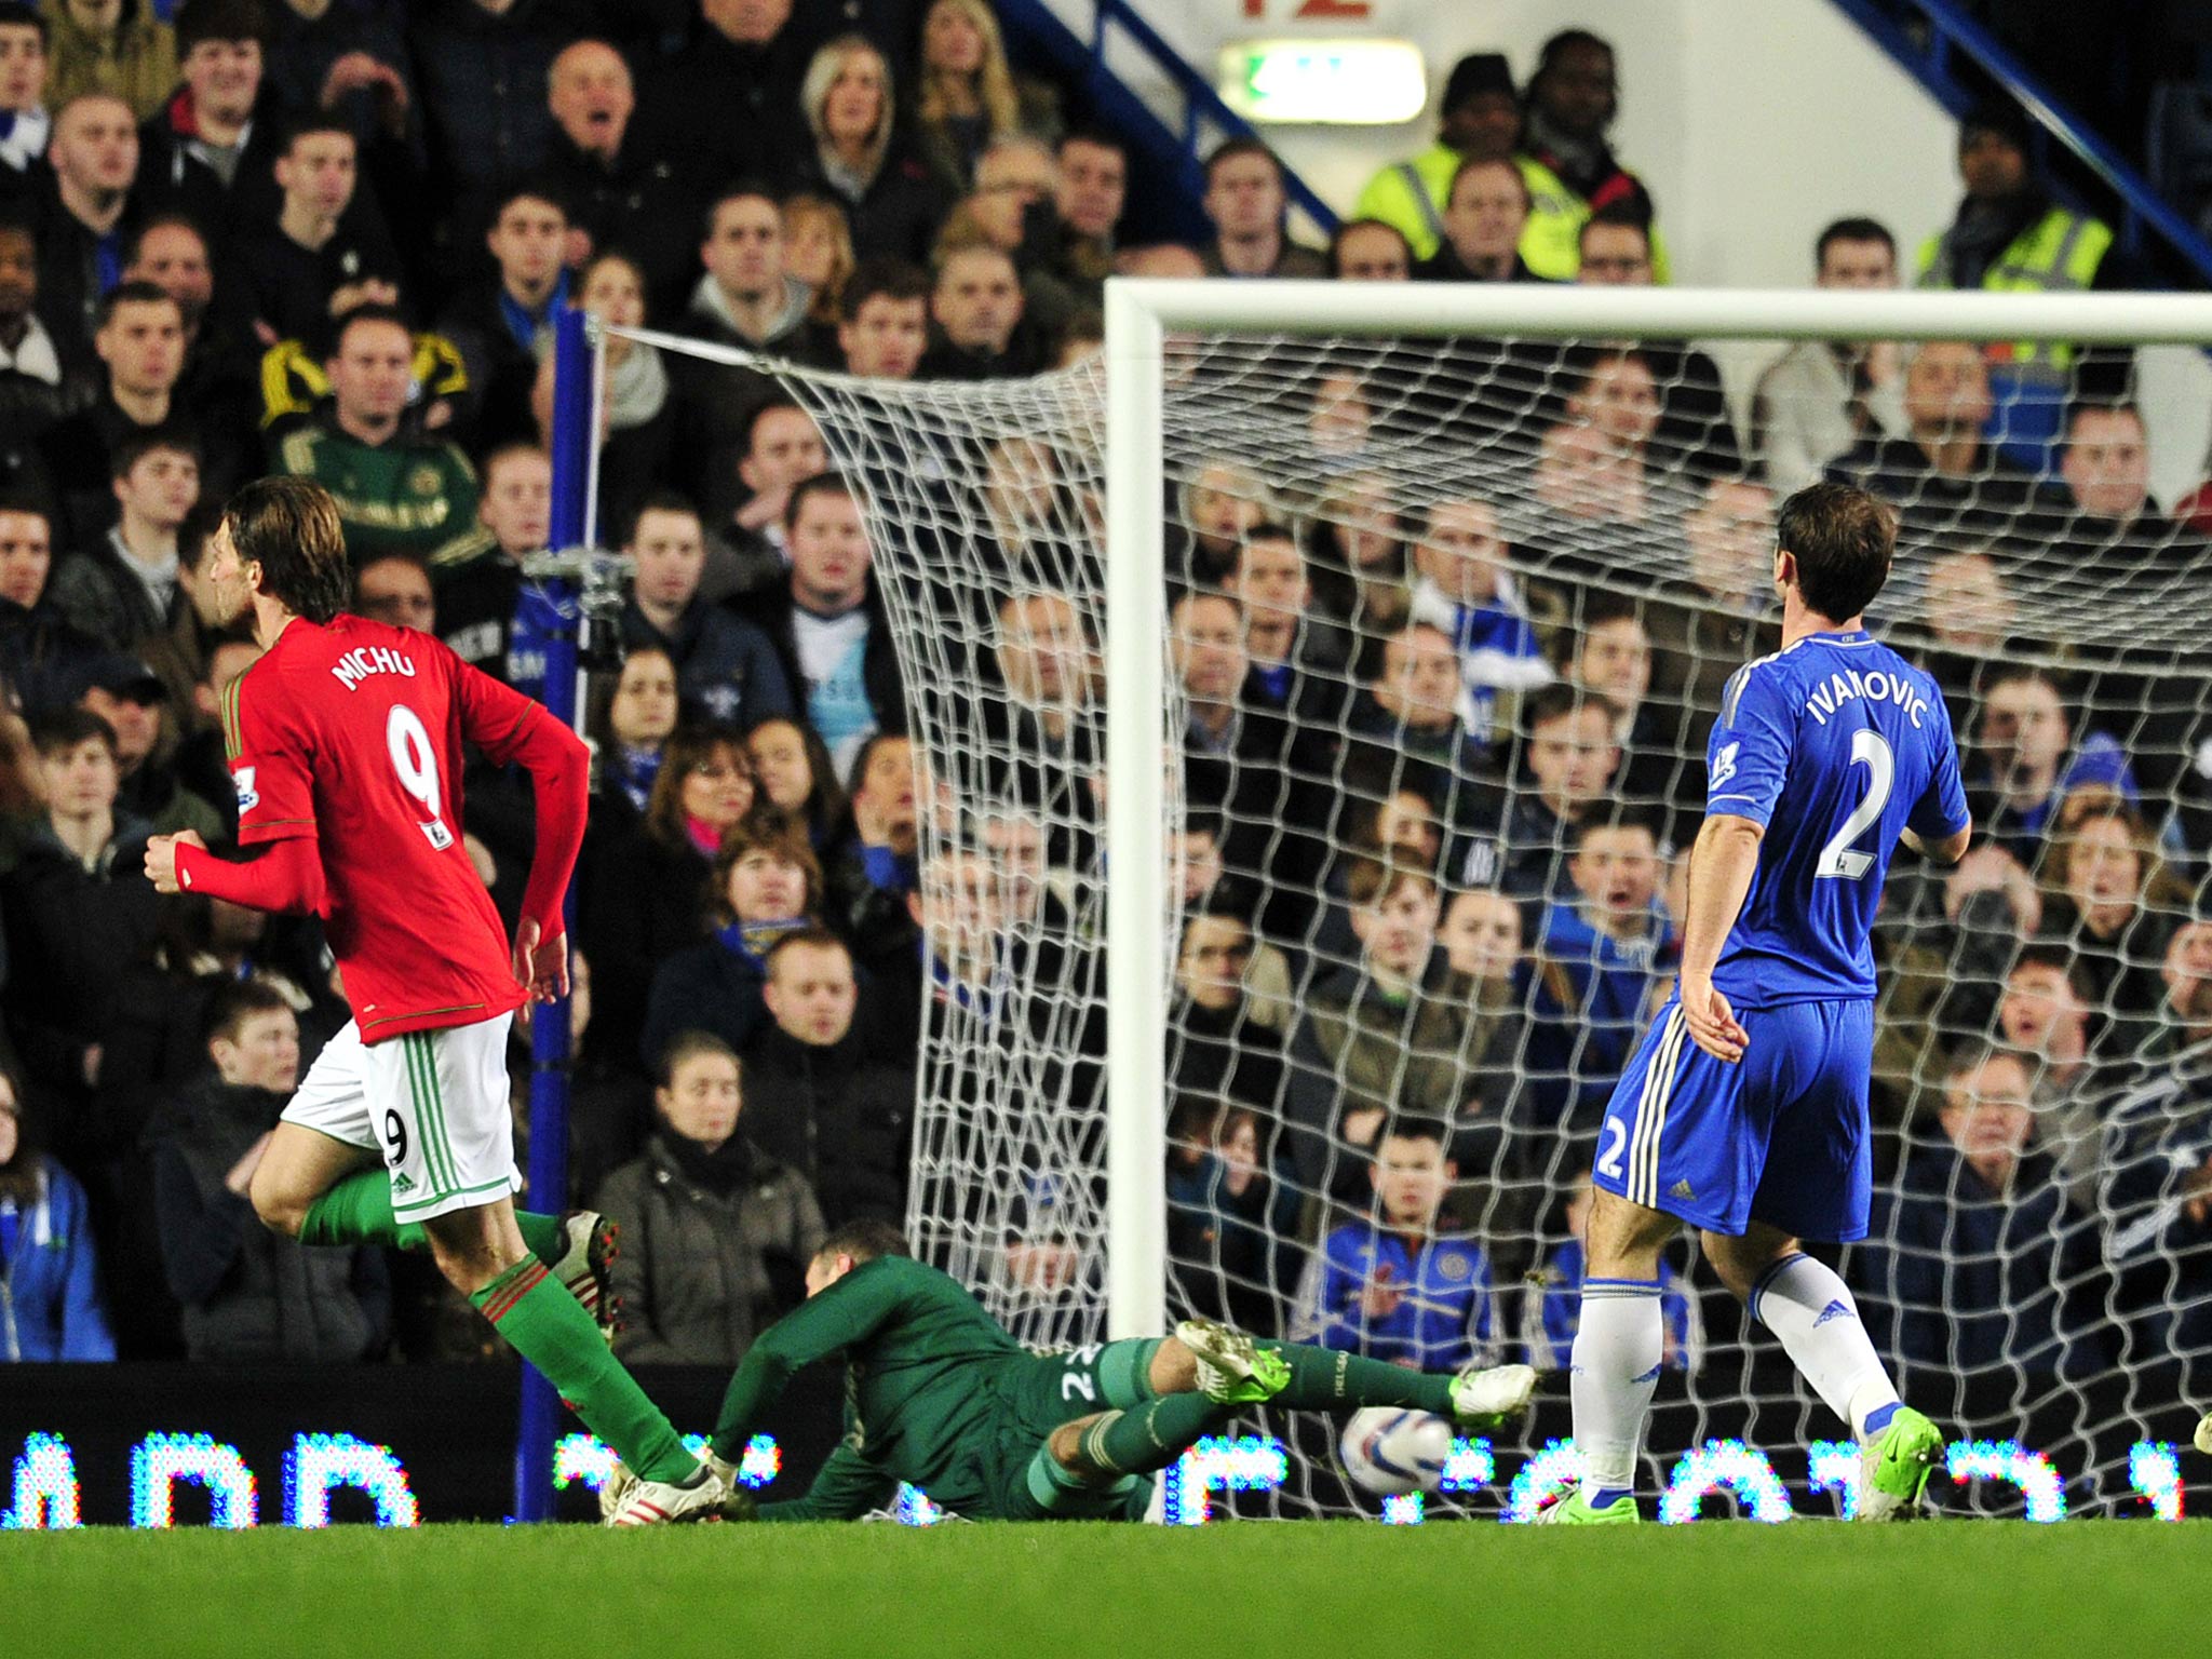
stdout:
[(1902, 841), (1955, 863), (1973, 827), (1942, 692), (1863, 626), (1893, 551), (1896, 515), (1860, 489), (1818, 482), (1783, 502), (1783, 648), (1721, 697), (1681, 978), (1597, 1144), (1573, 1352), (1584, 1475), (1544, 1520), (1637, 1520), (1659, 1252), (1681, 1223), (1858, 1436), (1860, 1520), (1918, 1513), (1942, 1455), (1843, 1279), (1801, 1245), (1867, 1234), (1867, 931), (1889, 856)]

